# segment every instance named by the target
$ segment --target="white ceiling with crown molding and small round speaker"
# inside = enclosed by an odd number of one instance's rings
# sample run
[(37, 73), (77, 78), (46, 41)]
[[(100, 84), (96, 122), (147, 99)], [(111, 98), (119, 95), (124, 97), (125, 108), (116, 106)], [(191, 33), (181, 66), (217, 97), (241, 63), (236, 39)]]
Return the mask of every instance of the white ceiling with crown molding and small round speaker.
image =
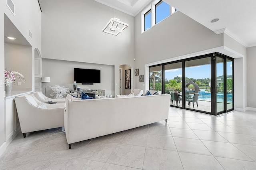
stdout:
[[(136, 16), (152, 0), (95, 0)], [(164, 0), (216, 34), (225, 32), (245, 47), (256, 45), (256, 0)], [(215, 23), (210, 21), (219, 18)]]

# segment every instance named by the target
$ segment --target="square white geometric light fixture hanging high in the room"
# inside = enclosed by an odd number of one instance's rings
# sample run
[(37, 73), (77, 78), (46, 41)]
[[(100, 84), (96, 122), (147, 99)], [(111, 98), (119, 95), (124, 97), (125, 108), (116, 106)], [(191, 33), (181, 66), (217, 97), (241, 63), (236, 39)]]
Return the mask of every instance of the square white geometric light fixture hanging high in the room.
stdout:
[(102, 32), (117, 36), (120, 32), (123, 32), (126, 27), (128, 27), (128, 24), (120, 21), (118, 18), (111, 18)]

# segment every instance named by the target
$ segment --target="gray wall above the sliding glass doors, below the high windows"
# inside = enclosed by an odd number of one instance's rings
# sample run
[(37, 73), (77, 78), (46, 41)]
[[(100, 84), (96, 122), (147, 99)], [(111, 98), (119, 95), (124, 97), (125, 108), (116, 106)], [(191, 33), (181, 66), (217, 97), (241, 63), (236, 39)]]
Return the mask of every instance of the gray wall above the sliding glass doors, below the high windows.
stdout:
[(140, 70), (140, 75), (144, 75), (145, 82), (140, 83), (136, 76), (134, 79), (136, 89), (147, 90), (146, 64), (171, 60), (174, 57), (224, 44), (223, 34), (215, 34), (179, 11), (142, 34), (140, 23), (141, 17), (138, 14), (135, 17), (136, 68)]

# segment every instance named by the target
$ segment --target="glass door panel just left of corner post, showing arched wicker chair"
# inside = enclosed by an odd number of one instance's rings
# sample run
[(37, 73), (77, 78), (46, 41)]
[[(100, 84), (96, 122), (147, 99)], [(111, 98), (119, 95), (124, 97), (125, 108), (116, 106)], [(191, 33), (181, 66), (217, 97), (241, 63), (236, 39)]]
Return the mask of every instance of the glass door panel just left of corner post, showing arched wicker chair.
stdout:
[(185, 61), (185, 108), (211, 113), (211, 57)]

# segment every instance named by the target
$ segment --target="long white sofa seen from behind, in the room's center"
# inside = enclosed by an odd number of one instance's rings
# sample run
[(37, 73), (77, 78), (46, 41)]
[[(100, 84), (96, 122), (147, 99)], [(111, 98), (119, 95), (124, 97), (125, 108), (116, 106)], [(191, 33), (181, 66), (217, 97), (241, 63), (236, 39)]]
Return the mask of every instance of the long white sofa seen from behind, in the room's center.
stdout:
[(77, 100), (66, 98), (64, 127), (72, 143), (168, 119), (170, 95)]

